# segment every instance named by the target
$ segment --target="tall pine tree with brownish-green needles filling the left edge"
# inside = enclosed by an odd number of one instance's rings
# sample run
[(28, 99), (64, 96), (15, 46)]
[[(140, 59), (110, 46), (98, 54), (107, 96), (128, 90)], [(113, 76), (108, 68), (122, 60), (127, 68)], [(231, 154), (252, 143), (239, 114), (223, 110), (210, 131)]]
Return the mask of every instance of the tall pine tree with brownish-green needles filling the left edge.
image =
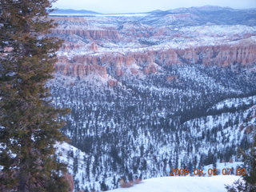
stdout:
[(62, 41), (48, 35), (54, 0), (1, 0), (0, 3), (0, 190), (67, 191), (54, 144), (66, 110), (50, 102), (55, 52)]

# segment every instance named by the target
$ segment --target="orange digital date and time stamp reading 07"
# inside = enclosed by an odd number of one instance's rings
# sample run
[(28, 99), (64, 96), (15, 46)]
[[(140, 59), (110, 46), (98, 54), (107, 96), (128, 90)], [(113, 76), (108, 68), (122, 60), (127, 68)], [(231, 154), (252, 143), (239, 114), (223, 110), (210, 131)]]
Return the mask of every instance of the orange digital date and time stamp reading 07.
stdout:
[(186, 176), (186, 175), (199, 175), (199, 176), (211, 176), (211, 175), (246, 175), (245, 168), (238, 168), (238, 169), (170, 169), (170, 176)]

